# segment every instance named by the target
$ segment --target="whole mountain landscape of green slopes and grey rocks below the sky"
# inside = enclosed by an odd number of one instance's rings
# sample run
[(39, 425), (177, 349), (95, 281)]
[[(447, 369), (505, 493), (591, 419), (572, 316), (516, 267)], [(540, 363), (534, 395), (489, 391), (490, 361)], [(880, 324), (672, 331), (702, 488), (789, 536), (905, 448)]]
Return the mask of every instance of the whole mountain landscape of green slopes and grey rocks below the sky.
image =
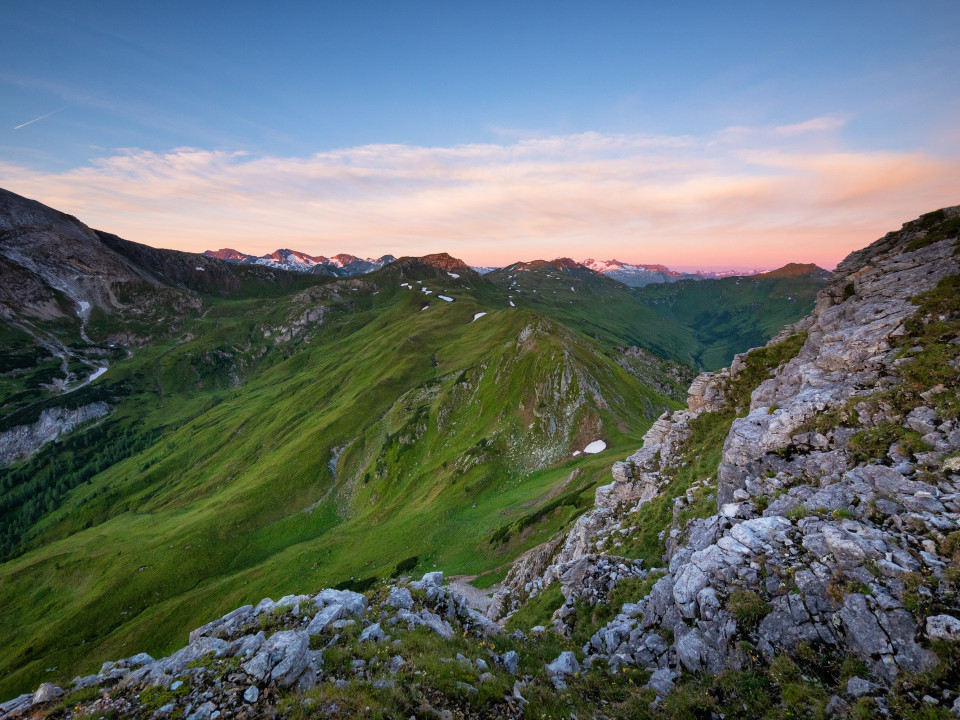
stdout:
[(480, 274), (0, 190), (0, 718), (960, 712), (958, 231)]

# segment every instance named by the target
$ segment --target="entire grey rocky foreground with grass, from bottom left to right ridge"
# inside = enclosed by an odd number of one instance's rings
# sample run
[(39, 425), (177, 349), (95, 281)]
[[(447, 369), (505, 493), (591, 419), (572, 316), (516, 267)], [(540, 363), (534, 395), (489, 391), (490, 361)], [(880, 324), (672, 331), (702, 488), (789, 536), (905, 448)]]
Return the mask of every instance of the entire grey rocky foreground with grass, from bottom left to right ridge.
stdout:
[(700, 376), (486, 615), (440, 573), (264, 600), (0, 718), (960, 716), (958, 230)]

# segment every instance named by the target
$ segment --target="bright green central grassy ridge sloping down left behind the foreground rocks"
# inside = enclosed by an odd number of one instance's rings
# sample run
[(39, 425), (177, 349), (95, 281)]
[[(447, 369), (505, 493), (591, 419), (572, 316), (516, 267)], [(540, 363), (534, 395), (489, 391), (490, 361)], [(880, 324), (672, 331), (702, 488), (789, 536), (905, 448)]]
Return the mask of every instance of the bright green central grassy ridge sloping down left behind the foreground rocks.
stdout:
[[(173, 650), (243, 602), (389, 576), (412, 556), (497, 567), (582, 509), (669, 404), (495, 289), (428, 284), (458, 302), (385, 283), (332, 304), (296, 345), (263, 337), (293, 301), (221, 301), (179, 341), (114, 365), (98, 382), (130, 395), (112, 420), (162, 437), (69, 493), (0, 566), (0, 695)], [(607, 452), (571, 457), (597, 437)], [(487, 542), (525, 515), (509, 542)]]

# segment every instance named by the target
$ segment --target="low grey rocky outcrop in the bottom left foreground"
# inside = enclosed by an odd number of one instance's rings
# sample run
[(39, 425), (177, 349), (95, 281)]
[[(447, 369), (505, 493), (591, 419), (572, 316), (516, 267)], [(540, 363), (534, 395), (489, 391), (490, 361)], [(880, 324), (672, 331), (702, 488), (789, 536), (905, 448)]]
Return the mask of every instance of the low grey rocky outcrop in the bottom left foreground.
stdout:
[[(163, 717), (194, 718), (273, 717), (283, 698), (279, 691), (302, 694), (321, 681), (336, 687), (358, 682), (386, 689), (394, 683), (390, 678), (414, 672), (415, 661), (408, 663), (395, 655), (381, 664), (376, 650), (371, 660), (357, 652), (345, 672), (342, 663), (325, 666), (324, 652), (349, 652), (352, 637), (358, 638), (360, 647), (388, 642), (400, 647), (403, 638), (417, 628), (443, 640), (451, 640), (454, 634), (472, 636), (479, 647), (502, 632), (472, 610), (463, 596), (444, 587), (442, 580), (443, 573), (431, 572), (413, 583), (388, 585), (370, 593), (373, 602), (358, 592), (332, 588), (315, 595), (288, 595), (276, 602), (265, 598), (197, 628), (190, 633), (189, 643), (168, 657), (154, 659), (141, 653), (105, 662), (99, 672), (74, 678), (67, 689), (71, 693), (93, 687), (108, 691), (92, 701), (84, 695), (79, 701), (86, 705), (84, 714), (110, 709), (120, 716), (139, 717), (155, 710), (162, 711)], [(484, 673), (493, 680), (490, 665), (511, 675), (518, 672), (517, 654), (501, 657), (492, 646), (486, 660), (463, 660), (480, 682)], [(63, 688), (44, 683), (35, 693), (0, 704), (0, 720), (30, 717), (63, 695)], [(156, 697), (165, 700), (160, 708), (150, 704)], [(109, 707), (104, 698), (110, 700)], [(520, 705), (522, 699), (507, 699), (497, 711), (515, 717)], [(330, 711), (338, 710), (334, 706)]]

